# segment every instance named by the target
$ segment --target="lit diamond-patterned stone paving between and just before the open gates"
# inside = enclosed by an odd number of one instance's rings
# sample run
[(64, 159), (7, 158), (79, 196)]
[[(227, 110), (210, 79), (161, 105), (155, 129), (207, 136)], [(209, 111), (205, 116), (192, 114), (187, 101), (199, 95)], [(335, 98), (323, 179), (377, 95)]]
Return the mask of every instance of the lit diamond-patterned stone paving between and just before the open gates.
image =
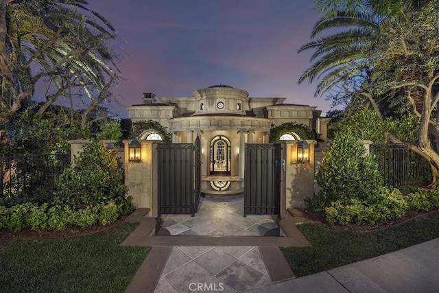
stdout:
[(171, 235), (264, 236), (278, 228), (275, 215), (244, 214), (244, 196), (201, 198), (198, 213), (162, 215), (163, 228)]

